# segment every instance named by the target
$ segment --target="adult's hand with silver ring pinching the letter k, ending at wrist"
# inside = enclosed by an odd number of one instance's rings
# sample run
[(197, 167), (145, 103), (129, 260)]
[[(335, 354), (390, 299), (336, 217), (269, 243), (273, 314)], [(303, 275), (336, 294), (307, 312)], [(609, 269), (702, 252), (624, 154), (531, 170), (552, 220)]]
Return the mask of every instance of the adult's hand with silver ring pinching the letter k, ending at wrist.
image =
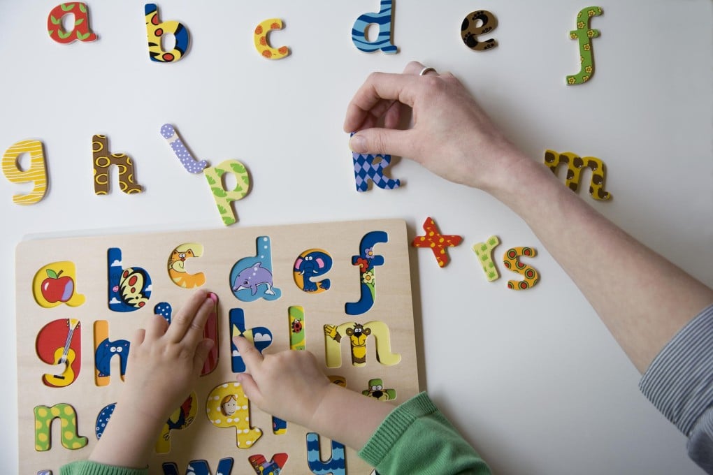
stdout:
[[(372, 73), (347, 108), (345, 132), (354, 152), (409, 157), (452, 182), (494, 192), (508, 169), (530, 162), (493, 125), (451, 73), (419, 75), (413, 61), (402, 74)], [(398, 128), (408, 108), (413, 127)], [(384, 127), (376, 127), (383, 120)]]

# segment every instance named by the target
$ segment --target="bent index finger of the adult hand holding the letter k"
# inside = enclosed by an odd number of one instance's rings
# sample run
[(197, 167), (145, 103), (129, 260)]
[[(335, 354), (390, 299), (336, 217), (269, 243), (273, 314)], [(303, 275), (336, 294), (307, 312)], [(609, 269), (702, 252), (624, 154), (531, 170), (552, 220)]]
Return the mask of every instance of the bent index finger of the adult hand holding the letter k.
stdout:
[(371, 108), (381, 100), (398, 100), (413, 107), (418, 79), (419, 76), (411, 74), (371, 73), (347, 106), (344, 132), (358, 130)]

